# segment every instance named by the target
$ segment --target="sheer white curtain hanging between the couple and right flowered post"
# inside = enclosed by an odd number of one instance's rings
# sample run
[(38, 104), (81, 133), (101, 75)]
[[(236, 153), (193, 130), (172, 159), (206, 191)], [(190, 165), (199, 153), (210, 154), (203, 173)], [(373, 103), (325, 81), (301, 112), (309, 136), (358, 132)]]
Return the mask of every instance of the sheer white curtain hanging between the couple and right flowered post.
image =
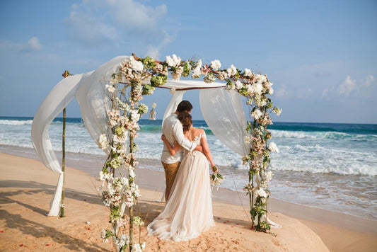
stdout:
[(204, 120), (214, 135), (229, 149), (241, 156), (249, 153), (245, 144), (246, 120), (241, 96), (224, 88), (202, 89), (200, 108)]

